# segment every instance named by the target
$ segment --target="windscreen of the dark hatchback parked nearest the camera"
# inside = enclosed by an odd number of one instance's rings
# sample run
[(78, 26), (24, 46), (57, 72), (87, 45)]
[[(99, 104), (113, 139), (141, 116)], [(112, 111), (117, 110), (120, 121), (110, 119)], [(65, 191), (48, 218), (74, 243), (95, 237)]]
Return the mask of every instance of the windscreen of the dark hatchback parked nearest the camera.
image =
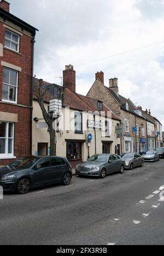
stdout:
[(12, 162), (9, 166), (15, 167), (15, 168), (21, 168), (26, 169), (30, 168), (33, 164), (35, 164), (39, 158), (21, 158), (16, 160), (15, 162)]

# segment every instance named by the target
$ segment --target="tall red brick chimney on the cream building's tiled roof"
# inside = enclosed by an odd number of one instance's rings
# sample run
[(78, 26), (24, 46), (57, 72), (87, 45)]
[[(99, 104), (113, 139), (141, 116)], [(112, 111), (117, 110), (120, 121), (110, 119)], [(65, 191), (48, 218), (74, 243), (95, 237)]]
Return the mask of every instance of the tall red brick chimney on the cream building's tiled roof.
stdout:
[(63, 71), (63, 87), (70, 91), (76, 91), (76, 72), (72, 65), (66, 65)]

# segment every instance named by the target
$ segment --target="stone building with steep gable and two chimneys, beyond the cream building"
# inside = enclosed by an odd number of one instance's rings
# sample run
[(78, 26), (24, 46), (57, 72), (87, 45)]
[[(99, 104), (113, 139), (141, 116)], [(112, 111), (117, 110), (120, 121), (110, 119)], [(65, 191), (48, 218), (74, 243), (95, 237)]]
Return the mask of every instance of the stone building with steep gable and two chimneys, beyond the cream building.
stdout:
[(87, 97), (103, 102), (121, 119), (121, 152), (145, 152), (147, 149), (147, 120), (130, 99), (119, 94), (118, 79), (109, 79), (109, 86), (104, 85), (104, 73), (97, 72), (96, 80)]

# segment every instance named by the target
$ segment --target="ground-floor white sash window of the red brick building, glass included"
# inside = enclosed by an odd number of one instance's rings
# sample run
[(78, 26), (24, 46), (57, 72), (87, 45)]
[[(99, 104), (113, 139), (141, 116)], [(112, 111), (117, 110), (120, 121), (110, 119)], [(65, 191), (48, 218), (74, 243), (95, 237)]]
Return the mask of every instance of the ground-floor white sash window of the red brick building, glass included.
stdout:
[(14, 156), (14, 123), (0, 121), (0, 158)]

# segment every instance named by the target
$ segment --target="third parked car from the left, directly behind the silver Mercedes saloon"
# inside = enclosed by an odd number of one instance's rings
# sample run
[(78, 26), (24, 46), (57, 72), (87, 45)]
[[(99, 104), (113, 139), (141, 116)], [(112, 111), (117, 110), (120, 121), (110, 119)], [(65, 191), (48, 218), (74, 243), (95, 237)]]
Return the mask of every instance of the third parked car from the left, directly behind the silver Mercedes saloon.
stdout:
[(125, 160), (125, 168), (133, 170), (134, 167), (144, 166), (144, 158), (138, 153), (127, 153), (122, 156), (122, 159)]

